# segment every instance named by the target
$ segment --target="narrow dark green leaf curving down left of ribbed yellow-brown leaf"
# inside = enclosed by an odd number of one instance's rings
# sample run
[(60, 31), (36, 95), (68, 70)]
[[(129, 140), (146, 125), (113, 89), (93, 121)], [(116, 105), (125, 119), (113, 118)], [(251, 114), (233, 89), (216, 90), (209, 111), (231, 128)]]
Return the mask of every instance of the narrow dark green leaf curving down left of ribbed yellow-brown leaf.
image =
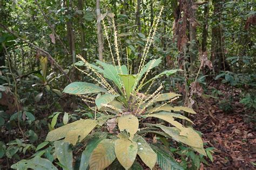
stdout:
[(87, 167), (89, 166), (92, 151), (95, 150), (100, 141), (102, 141), (105, 138), (106, 134), (104, 136), (95, 136), (88, 141), (85, 150), (82, 153), (79, 170), (87, 169)]

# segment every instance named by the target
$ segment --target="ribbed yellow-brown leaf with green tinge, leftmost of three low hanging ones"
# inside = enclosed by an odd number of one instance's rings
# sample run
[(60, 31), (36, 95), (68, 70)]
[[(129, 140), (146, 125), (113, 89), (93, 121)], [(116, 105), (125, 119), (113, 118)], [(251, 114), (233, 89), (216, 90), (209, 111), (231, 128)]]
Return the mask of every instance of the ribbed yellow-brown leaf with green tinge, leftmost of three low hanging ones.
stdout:
[(114, 159), (116, 159), (116, 154), (114, 152), (114, 140), (103, 139), (91, 154), (89, 163), (90, 169), (104, 169), (109, 166)]

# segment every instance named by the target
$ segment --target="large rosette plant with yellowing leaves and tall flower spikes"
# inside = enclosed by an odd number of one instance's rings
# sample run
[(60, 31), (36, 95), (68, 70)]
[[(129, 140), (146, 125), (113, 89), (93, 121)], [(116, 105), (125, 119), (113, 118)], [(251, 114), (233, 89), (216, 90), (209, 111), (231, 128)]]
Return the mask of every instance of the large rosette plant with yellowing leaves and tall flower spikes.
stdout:
[[(60, 154), (59, 147), (63, 148), (69, 144), (76, 145), (76, 143), (86, 140), (79, 169), (105, 169), (115, 162), (117, 162), (116, 165), (119, 164), (123, 168), (129, 169), (134, 165), (136, 157), (139, 157), (150, 169), (153, 169), (156, 164), (162, 169), (182, 169), (174, 160), (171, 160), (170, 164), (170, 160), (166, 159), (167, 157), (159, 147), (149, 144), (149, 141), (144, 138), (148, 133), (172, 138), (192, 147), (200, 154), (206, 155), (203, 140), (198, 132), (191, 127), (183, 126), (176, 120), (185, 119), (192, 123), (187, 117), (175, 112), (186, 111), (191, 114), (196, 114), (196, 112), (186, 107), (173, 107), (172, 101), (177, 100), (180, 95), (161, 93), (163, 85), (149, 94), (154, 80), (160, 76), (177, 72), (177, 69), (166, 70), (150, 80), (146, 79), (150, 70), (161, 62), (161, 59), (153, 59), (145, 63), (159, 19), (160, 15), (155, 19), (154, 27), (150, 31), (137, 74), (130, 74), (129, 63), (127, 65), (121, 63), (114, 22), (117, 63), (111, 48), (112, 65), (99, 60), (96, 61), (97, 65), (93, 65), (84, 60), (82, 56), (78, 56), (81, 61), (73, 66), (91, 77), (95, 83), (73, 82), (66, 86), (63, 92), (78, 95), (83, 101), (89, 103), (92, 106), (91, 109), (95, 110), (95, 118), (80, 119), (48, 133), (46, 141), (55, 141), (59, 161), (63, 160), (60, 157), (63, 157), (62, 154), (64, 154), (63, 149), (63, 153)], [(104, 22), (103, 25), (106, 28)], [(105, 36), (109, 42), (106, 29)], [(89, 69), (95, 76), (84, 71), (83, 67)], [(161, 119), (166, 122), (165, 124), (169, 123), (171, 126), (147, 123), (149, 117)], [(72, 164), (64, 164), (60, 161), (61, 164), (65, 165), (64, 167), (72, 168)]]

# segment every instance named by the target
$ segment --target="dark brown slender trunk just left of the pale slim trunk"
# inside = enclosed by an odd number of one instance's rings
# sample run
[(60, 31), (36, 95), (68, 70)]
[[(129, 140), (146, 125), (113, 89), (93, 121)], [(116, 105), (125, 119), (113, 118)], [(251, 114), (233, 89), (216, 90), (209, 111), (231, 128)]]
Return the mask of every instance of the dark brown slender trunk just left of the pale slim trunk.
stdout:
[(85, 40), (85, 27), (84, 27), (84, 0), (78, 0), (78, 10), (82, 11), (81, 15), (78, 17), (78, 22), (79, 22), (79, 32), (80, 32), (80, 51), (81, 51), (81, 55), (83, 56), (83, 58), (87, 59), (87, 54), (85, 51), (86, 48), (86, 40)]

